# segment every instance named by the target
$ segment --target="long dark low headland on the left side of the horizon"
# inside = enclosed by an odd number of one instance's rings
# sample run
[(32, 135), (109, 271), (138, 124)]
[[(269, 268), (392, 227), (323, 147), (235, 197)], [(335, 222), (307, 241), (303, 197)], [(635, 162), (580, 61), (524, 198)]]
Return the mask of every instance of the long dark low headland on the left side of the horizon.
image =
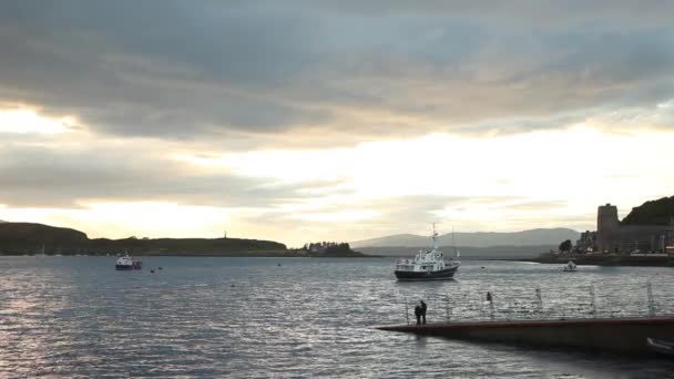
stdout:
[(31, 223), (0, 224), (0, 253), (115, 255), (266, 256), (290, 255), (284, 244), (243, 238), (123, 238), (89, 239), (86, 234), (63, 227)]

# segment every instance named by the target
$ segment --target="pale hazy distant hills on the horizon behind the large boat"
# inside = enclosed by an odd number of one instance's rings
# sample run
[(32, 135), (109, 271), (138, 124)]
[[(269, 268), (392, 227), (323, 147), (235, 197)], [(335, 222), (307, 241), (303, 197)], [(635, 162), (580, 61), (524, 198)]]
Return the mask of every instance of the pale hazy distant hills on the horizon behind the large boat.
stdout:
[[(569, 228), (531, 229), (523, 232), (496, 233), (455, 233), (453, 239), (457, 246), (463, 247), (491, 247), (491, 246), (559, 246), (560, 242), (571, 239), (575, 242), (580, 233)], [(451, 246), (451, 233), (438, 238), (440, 246)], [(431, 245), (430, 237), (413, 234), (398, 234), (387, 237), (371, 238), (353, 242), (351, 246), (362, 250), (364, 247), (427, 247)], [(362, 250), (366, 253), (365, 250)], [(367, 253), (366, 253), (367, 254)]]

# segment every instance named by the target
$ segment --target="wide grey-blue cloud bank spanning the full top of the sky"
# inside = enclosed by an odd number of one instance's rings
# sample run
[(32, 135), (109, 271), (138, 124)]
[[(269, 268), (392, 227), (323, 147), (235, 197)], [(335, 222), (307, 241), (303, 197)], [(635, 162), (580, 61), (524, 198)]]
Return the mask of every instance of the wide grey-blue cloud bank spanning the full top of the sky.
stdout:
[[(305, 130), (347, 130), (346, 143), (527, 131), (674, 92), (668, 2), (0, 7), (0, 102), (74, 114), (111, 134), (251, 147), (257, 136)], [(275, 143), (298, 143), (290, 140)]]

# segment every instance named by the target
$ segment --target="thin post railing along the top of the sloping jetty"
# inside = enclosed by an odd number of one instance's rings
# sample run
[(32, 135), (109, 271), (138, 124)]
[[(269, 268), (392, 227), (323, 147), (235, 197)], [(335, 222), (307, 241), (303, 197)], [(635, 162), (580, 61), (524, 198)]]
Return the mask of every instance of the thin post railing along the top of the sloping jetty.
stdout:
[[(674, 316), (674, 285), (651, 281), (620, 284), (619, 288), (592, 283), (564, 289), (488, 288), (481, 294), (452, 290), (451, 295), (426, 291), (415, 298), (423, 298), (429, 309), (427, 318), (435, 322)], [(406, 297), (401, 303), (410, 324), (410, 309), (418, 300)]]

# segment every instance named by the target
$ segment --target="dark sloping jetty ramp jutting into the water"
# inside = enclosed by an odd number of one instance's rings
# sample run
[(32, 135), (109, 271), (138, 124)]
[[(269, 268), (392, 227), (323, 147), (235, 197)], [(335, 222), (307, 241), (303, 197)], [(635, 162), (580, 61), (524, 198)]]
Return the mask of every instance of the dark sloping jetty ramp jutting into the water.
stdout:
[(674, 316), (459, 321), (377, 329), (463, 340), (652, 355), (646, 338), (674, 339)]

